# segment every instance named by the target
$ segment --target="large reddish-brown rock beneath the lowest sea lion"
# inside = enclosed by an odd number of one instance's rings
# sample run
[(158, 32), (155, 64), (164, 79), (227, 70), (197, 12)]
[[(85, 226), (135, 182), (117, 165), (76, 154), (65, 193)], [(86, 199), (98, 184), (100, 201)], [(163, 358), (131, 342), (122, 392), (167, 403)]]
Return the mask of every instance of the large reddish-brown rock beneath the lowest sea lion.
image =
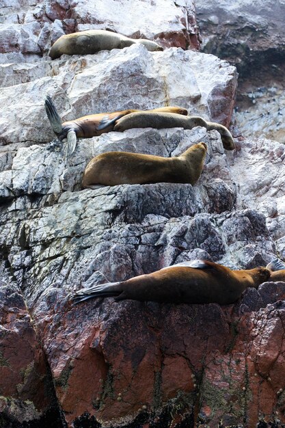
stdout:
[(262, 289), (254, 310), (252, 289), (222, 308), (111, 298), (71, 306), (54, 290), (35, 319), (69, 426), (285, 423), (285, 306), (263, 302), (276, 297), (273, 283)]

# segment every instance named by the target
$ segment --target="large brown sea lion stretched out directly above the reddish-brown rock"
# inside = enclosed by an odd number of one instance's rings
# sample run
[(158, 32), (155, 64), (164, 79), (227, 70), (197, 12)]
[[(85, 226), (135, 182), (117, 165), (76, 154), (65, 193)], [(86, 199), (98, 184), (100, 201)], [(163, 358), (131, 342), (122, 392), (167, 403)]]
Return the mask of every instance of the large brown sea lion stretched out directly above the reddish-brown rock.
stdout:
[(179, 263), (122, 282), (107, 282), (81, 289), (72, 296), (74, 303), (91, 297), (114, 297), (159, 303), (227, 305), (234, 303), (247, 287), (258, 288), (270, 271), (265, 267), (232, 271), (208, 260)]

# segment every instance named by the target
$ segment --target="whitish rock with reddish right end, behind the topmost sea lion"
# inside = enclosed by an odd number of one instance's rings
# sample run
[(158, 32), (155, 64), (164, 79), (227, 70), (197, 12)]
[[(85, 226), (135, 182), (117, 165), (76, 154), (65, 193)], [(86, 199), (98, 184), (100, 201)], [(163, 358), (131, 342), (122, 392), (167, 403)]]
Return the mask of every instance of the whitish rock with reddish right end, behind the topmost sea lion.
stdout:
[(133, 0), (131, 8), (126, 0), (4, 0), (0, 22), (4, 62), (13, 54), (20, 61), (46, 55), (63, 34), (90, 28), (149, 38), (163, 47), (200, 48), (193, 0)]

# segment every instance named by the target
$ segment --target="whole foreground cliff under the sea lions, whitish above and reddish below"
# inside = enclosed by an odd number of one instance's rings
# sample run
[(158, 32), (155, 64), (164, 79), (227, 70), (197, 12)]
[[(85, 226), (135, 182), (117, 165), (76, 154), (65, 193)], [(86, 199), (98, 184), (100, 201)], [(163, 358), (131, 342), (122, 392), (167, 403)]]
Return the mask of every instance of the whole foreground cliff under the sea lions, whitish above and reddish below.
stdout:
[[(219, 133), (201, 127), (130, 129), (81, 139), (64, 156), (44, 112), (46, 94), (62, 120), (181, 105), (230, 124), (236, 69), (181, 49), (197, 45), (193, 3), (135, 3), (129, 22), (120, 19), (128, 10), (123, 1), (3, 4), (0, 427), (284, 424), (284, 283), (248, 289), (223, 308), (70, 303), (83, 287), (183, 260), (251, 269), (285, 258), (282, 144), (236, 139), (236, 150), (225, 152)], [(58, 36), (87, 26), (172, 47), (47, 57)], [(99, 153), (174, 157), (200, 141), (208, 152), (194, 187), (81, 190), (83, 170)]]

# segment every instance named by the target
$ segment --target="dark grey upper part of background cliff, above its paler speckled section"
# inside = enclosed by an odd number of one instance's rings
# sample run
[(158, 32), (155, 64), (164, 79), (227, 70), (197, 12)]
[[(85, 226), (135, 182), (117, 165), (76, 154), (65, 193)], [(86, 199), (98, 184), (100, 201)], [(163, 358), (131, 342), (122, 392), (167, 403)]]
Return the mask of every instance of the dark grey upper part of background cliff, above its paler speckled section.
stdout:
[(239, 70), (285, 59), (285, 2), (196, 0), (203, 51), (236, 64)]

